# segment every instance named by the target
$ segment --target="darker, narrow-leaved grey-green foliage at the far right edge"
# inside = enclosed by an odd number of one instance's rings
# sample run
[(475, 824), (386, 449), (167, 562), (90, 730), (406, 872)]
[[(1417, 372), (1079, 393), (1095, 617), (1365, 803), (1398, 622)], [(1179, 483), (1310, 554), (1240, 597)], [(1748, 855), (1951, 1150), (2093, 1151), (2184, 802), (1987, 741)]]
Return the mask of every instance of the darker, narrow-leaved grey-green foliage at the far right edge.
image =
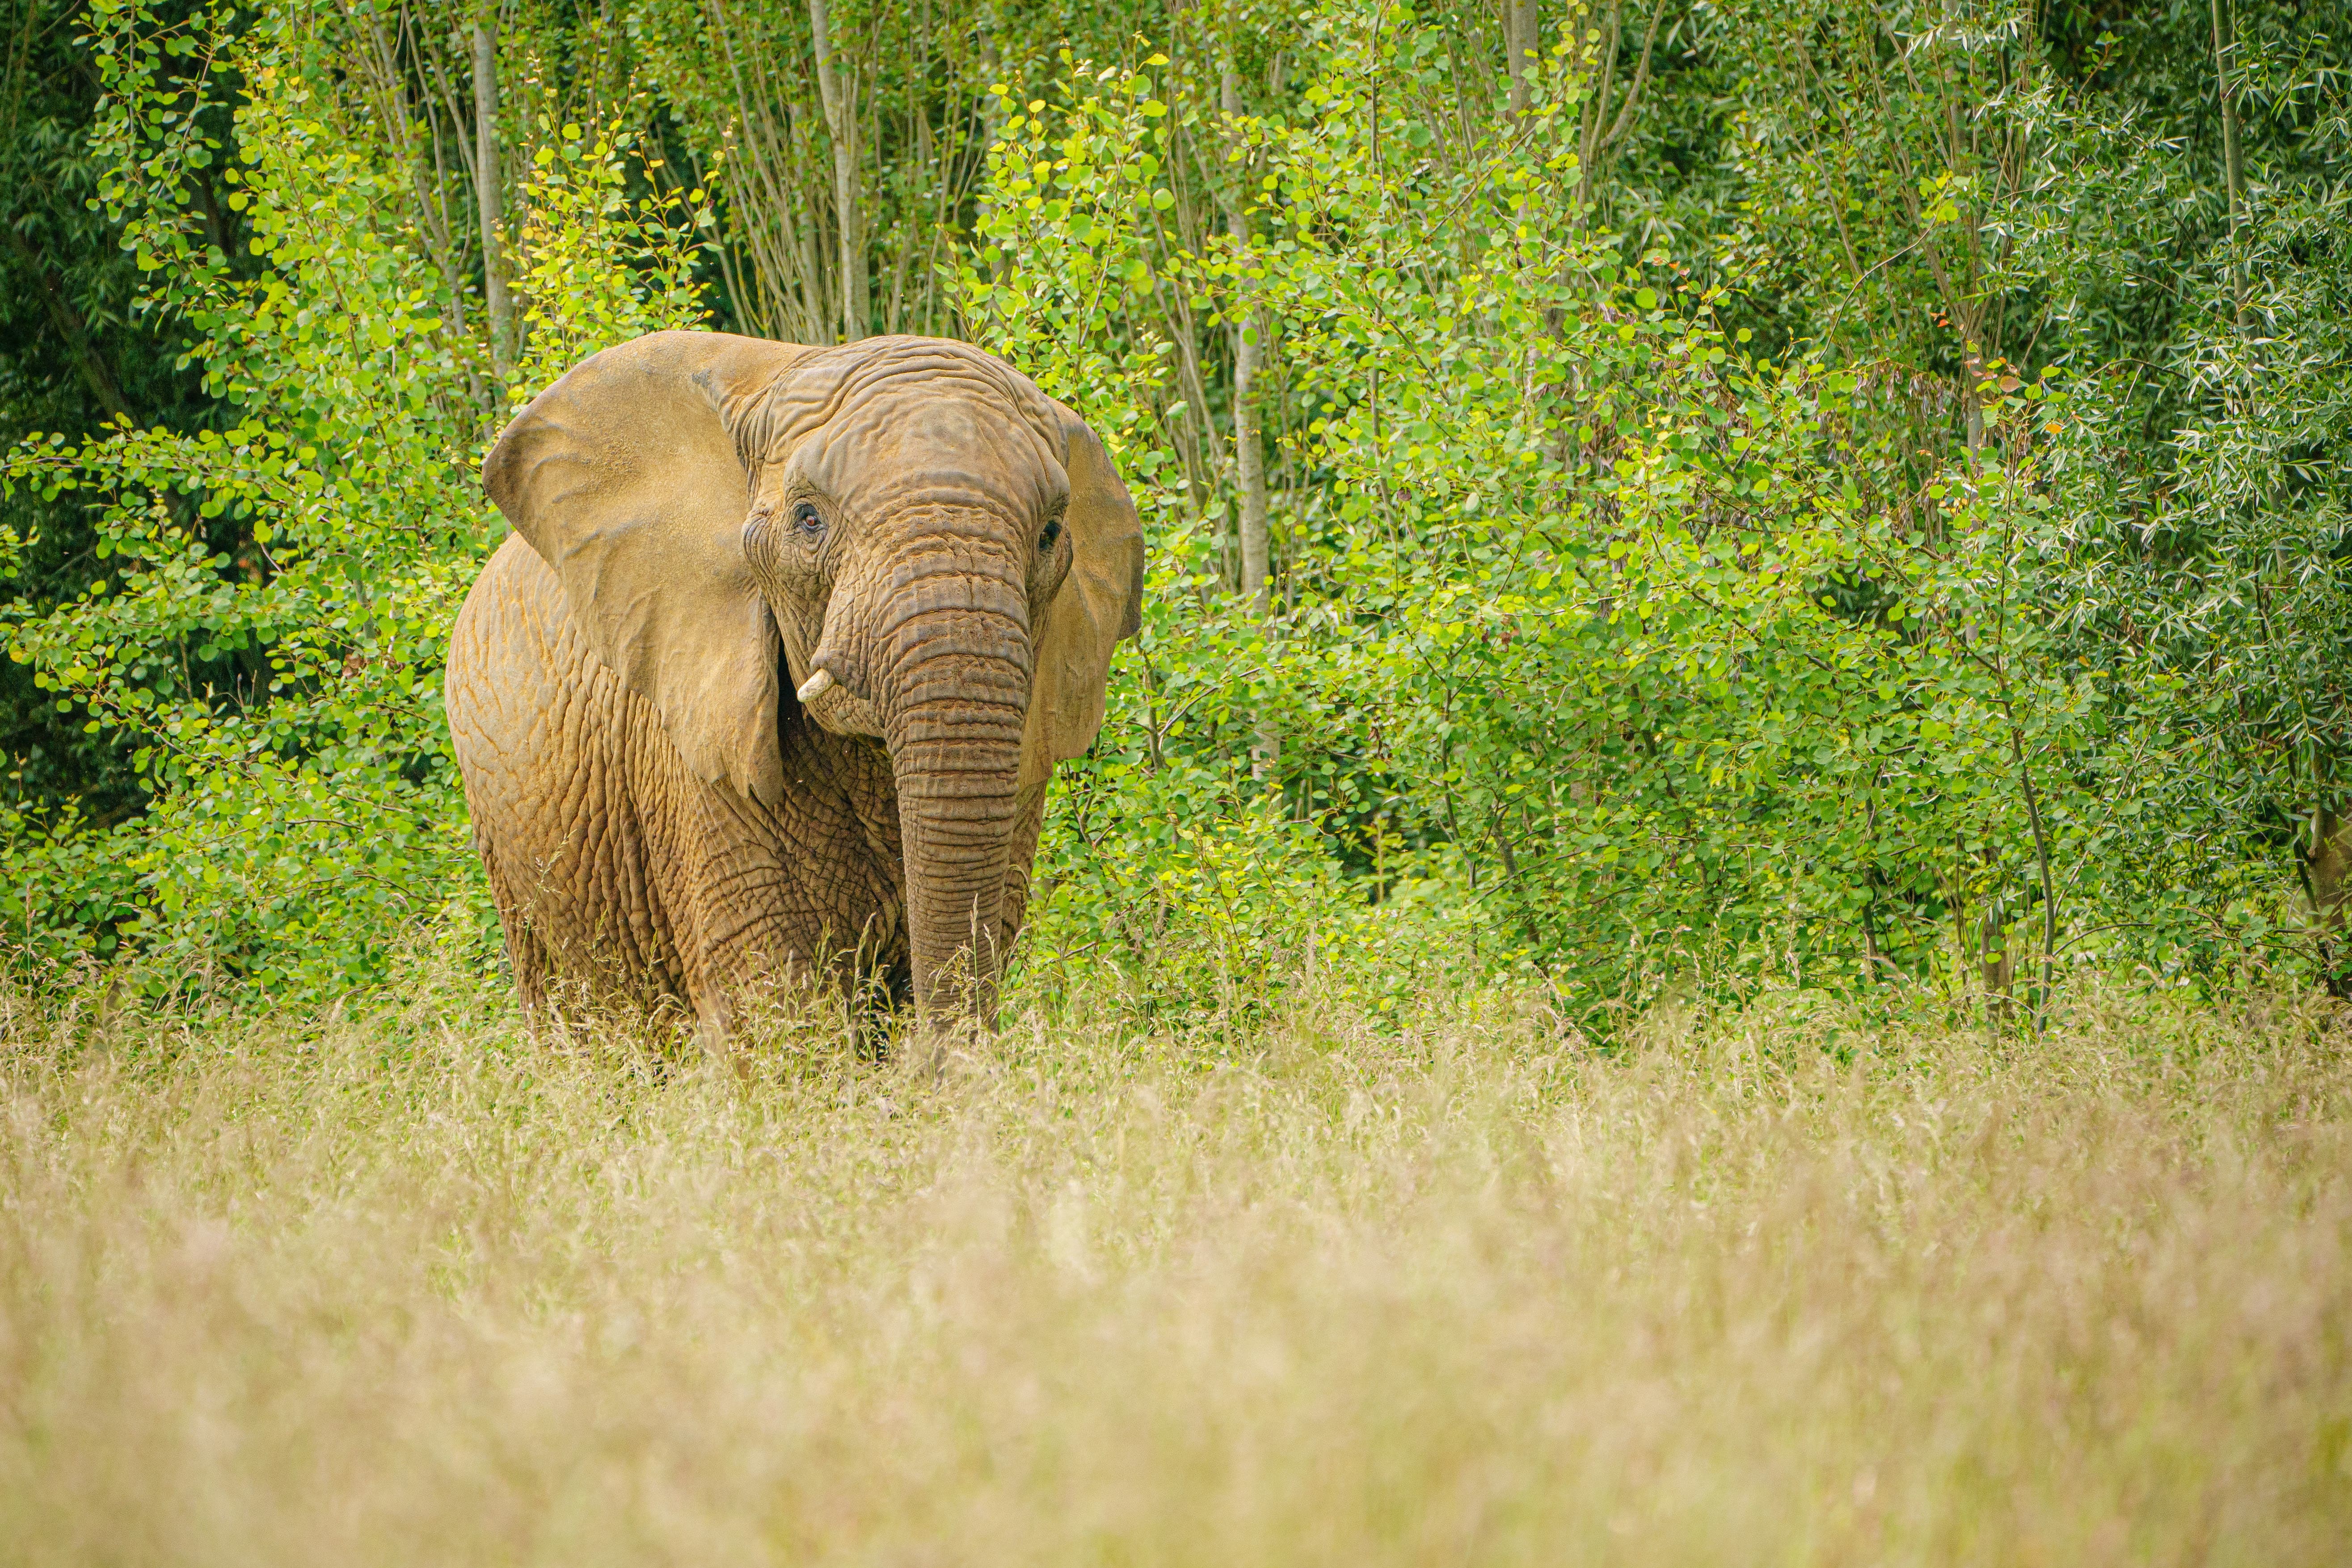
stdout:
[[(2133, 360), (2084, 383), (2091, 418), (2070, 430), (2063, 498), (2082, 550), (2065, 602), (2089, 656), (2161, 715), (2173, 766), (2140, 780), (2140, 797), (2194, 837), (2183, 872), (2291, 865), (2317, 893), (2321, 823), (2345, 811), (2352, 778), (2352, 395), (2340, 374), (2352, 99), (2345, 40), (2246, 26), (2253, 209), (2237, 237), (2176, 118), (2084, 106), (2067, 127), (2114, 197), (2084, 216), (2093, 242), (2065, 273), (2072, 320), (2096, 322), (2164, 266), (2150, 254), (2150, 205), (2194, 200), (2209, 249)], [(2154, 440), (2133, 440), (2143, 430)], [(2272, 919), (2277, 938), (2303, 926)], [(2340, 945), (2333, 957), (2343, 964)]]

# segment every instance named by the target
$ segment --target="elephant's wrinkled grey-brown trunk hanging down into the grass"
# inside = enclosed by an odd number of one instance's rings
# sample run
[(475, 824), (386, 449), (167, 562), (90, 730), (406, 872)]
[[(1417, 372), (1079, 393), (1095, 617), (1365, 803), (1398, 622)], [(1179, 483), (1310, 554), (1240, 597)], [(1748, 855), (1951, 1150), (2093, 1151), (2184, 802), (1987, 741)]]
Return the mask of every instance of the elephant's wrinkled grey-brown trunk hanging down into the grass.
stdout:
[(1011, 571), (934, 578), (891, 628), (889, 752), (915, 1011), (993, 1027), (1000, 912), (1028, 715), (1028, 599)]

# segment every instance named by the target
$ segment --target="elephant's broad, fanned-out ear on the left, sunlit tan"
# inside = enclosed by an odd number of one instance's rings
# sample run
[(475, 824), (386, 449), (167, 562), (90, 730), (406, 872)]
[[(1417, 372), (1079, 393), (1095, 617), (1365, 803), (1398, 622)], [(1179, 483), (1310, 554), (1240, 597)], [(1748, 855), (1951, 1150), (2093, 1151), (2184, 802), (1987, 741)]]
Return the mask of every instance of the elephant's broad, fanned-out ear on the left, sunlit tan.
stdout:
[(734, 428), (809, 353), (656, 331), (574, 364), (482, 461), (482, 489), (555, 571), (572, 621), (706, 783), (774, 804), (776, 625), (750, 562)]

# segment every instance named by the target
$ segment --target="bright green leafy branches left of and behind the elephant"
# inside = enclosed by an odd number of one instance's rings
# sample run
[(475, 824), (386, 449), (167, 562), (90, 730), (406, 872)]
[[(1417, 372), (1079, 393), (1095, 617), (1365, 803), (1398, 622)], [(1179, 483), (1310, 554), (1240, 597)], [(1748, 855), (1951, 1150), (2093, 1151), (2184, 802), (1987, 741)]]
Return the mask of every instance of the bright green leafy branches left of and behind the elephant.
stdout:
[[(78, 599), (21, 611), (9, 656), (134, 748), (148, 792), (134, 830), (92, 844), (68, 818), (12, 851), (12, 938), (49, 959), (132, 947), (153, 987), (221, 969), (336, 990), (421, 919), (482, 922), (440, 715), (449, 623), (503, 534), (473, 482), (480, 362), (437, 310), (454, 280), (402, 233), (407, 172), (336, 94), (332, 19), (101, 7), (99, 26), (101, 197), (233, 423), (33, 437), (7, 461), (12, 489), (85, 498), (106, 562)], [(233, 101), (226, 136), (167, 59), (202, 66), (200, 101)], [(546, 374), (696, 320), (689, 230), (628, 200), (628, 139), (564, 132), (527, 186)], [(256, 270), (188, 214), (188, 167), (219, 167)]]

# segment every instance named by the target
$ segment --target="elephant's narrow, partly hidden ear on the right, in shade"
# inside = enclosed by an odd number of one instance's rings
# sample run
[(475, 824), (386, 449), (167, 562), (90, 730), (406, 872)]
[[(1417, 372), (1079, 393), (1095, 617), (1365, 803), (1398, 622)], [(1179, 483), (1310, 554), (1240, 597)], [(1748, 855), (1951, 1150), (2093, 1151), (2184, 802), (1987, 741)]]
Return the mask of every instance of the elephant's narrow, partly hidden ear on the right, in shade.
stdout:
[(1070, 576), (1037, 637), (1037, 677), (1021, 745), (1021, 783), (1042, 783), (1056, 762), (1082, 757), (1103, 726), (1110, 651), (1143, 625), (1143, 524), (1101, 437), (1054, 404), (1070, 475)]

